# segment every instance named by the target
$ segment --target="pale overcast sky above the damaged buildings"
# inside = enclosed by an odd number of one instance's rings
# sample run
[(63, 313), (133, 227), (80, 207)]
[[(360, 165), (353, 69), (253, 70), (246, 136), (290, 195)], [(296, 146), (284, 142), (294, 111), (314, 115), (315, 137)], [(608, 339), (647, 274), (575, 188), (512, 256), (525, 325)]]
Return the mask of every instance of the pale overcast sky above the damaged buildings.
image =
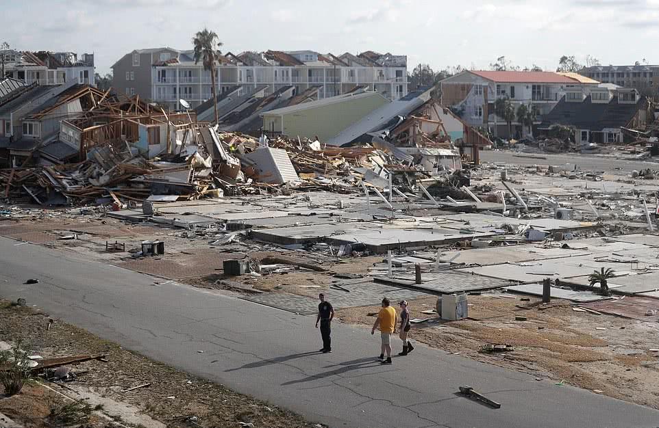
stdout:
[[(204, 26), (223, 51), (373, 50), (408, 70), (458, 64), (555, 69), (561, 55), (659, 63), (659, 0), (0, 0), (0, 41), (19, 50), (96, 54), (97, 72), (133, 49), (190, 49)], [(26, 25), (24, 16), (29, 16)]]

